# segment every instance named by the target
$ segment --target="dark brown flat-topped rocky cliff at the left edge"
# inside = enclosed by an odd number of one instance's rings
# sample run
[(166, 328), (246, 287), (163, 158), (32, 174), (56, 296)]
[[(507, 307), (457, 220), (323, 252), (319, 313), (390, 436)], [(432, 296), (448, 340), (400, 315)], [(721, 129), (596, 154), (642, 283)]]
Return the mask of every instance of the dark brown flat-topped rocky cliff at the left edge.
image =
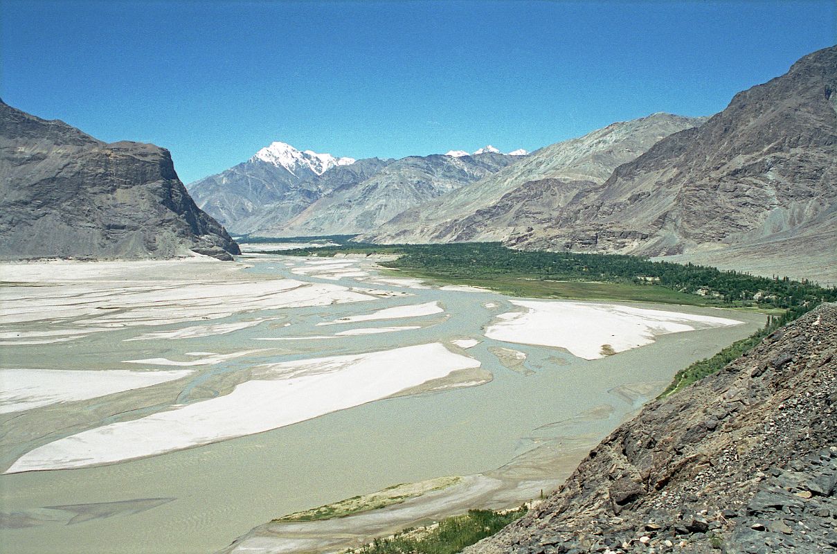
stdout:
[(167, 150), (106, 144), (2, 101), (0, 198), (0, 259), (239, 254), (189, 197)]

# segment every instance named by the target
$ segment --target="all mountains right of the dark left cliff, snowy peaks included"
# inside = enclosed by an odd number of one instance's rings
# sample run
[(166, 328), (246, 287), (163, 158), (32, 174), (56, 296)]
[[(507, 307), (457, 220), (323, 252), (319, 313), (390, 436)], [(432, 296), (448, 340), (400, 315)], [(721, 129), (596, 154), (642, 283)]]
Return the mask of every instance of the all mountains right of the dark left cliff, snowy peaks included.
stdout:
[(531, 154), (487, 146), (353, 161), (277, 142), (187, 187), (237, 234), (502, 241), (829, 285), (837, 283), (829, 269), (837, 266), (835, 75), (837, 49), (820, 50), (711, 118), (658, 113)]

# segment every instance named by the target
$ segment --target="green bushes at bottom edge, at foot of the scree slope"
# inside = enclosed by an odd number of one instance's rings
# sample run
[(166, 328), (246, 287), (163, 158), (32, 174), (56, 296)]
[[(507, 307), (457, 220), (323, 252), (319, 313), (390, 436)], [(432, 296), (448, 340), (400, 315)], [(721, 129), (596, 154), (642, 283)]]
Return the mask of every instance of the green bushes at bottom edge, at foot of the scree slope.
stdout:
[(512, 521), (523, 516), (526, 508), (498, 512), (469, 510), (465, 516), (453, 516), (439, 522), (427, 532), (407, 530), (391, 538), (375, 539), (372, 544), (355, 550), (356, 554), (454, 554), (486, 536), (494, 535)]

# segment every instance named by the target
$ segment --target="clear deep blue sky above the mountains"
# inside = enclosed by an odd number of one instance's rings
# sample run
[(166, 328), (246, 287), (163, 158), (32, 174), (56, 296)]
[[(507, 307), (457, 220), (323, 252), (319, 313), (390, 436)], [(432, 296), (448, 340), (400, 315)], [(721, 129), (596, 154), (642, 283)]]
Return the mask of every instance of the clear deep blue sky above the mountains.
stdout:
[(824, 2), (13, 2), (0, 95), (184, 182), (271, 141), (335, 156), (534, 150), (710, 115), (835, 43)]

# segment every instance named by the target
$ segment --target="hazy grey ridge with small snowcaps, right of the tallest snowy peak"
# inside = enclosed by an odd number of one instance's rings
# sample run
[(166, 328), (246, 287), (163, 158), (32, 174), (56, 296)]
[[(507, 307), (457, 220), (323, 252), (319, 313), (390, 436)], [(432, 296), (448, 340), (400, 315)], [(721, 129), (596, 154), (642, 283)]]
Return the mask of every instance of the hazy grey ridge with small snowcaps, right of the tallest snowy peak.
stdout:
[(413, 206), (444, 197), (523, 159), (496, 148), (477, 152), (405, 157), (366, 181), (327, 193), (287, 223), (265, 222), (256, 233), (288, 237), (368, 233)]

